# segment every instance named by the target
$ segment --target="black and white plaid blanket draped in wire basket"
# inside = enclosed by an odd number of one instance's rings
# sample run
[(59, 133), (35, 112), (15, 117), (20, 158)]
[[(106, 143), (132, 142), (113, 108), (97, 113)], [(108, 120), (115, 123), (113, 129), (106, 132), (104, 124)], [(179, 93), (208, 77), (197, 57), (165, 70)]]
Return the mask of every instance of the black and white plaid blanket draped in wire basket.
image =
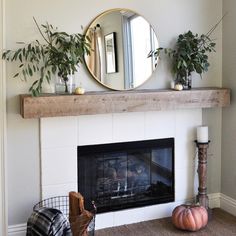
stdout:
[(26, 236), (72, 236), (70, 223), (61, 211), (40, 208), (27, 222)]

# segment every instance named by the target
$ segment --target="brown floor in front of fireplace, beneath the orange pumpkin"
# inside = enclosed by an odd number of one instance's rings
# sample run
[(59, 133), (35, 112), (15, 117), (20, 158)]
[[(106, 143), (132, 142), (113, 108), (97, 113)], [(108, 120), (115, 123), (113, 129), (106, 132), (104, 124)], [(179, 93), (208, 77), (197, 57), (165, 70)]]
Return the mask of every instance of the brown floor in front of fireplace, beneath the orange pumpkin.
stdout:
[(213, 209), (212, 219), (207, 226), (198, 232), (187, 232), (176, 229), (171, 218), (146, 221), (136, 224), (97, 230), (95, 236), (236, 236), (236, 217), (222, 211)]

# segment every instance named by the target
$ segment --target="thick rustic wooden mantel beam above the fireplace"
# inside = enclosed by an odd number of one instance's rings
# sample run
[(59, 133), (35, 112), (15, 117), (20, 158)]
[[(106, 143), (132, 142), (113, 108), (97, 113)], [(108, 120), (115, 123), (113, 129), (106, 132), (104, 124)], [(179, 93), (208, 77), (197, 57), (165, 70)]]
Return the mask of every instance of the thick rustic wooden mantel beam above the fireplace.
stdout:
[(84, 95), (20, 95), (23, 118), (79, 116), (106, 113), (224, 107), (230, 104), (230, 89), (132, 90), (87, 92)]

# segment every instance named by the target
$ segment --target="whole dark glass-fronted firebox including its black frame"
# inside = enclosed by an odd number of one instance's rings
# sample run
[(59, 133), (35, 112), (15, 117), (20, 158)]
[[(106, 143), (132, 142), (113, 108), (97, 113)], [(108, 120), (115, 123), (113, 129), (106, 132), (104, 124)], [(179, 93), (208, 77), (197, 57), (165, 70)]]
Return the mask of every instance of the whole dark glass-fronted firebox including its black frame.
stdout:
[(174, 138), (79, 146), (78, 191), (98, 213), (174, 201)]

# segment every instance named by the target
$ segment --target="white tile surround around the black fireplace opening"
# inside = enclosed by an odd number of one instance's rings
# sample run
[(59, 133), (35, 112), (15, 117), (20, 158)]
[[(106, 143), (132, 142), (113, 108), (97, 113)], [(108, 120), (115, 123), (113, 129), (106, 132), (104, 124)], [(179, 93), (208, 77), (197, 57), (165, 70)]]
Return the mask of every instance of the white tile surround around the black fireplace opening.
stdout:
[(98, 214), (96, 229), (170, 216), (197, 192), (196, 126), (201, 109), (41, 118), (42, 198), (77, 191), (77, 146), (175, 138), (175, 202)]

